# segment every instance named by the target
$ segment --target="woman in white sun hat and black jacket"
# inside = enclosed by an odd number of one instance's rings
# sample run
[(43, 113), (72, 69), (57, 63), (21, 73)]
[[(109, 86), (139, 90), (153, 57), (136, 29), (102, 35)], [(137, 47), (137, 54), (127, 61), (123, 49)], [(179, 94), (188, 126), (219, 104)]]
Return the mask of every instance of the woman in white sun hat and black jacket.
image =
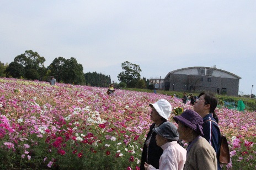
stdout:
[(157, 146), (157, 134), (153, 132), (153, 129), (159, 127), (162, 123), (167, 122), (167, 119), (172, 112), (172, 106), (165, 99), (158, 100), (156, 103), (151, 103), (150, 107), (152, 108), (150, 119), (154, 123), (150, 126), (150, 131), (148, 132), (143, 145), (140, 166), (141, 170), (145, 169), (145, 162), (151, 164), (155, 168), (159, 168), (159, 158), (163, 153), (163, 149), (160, 146)]

